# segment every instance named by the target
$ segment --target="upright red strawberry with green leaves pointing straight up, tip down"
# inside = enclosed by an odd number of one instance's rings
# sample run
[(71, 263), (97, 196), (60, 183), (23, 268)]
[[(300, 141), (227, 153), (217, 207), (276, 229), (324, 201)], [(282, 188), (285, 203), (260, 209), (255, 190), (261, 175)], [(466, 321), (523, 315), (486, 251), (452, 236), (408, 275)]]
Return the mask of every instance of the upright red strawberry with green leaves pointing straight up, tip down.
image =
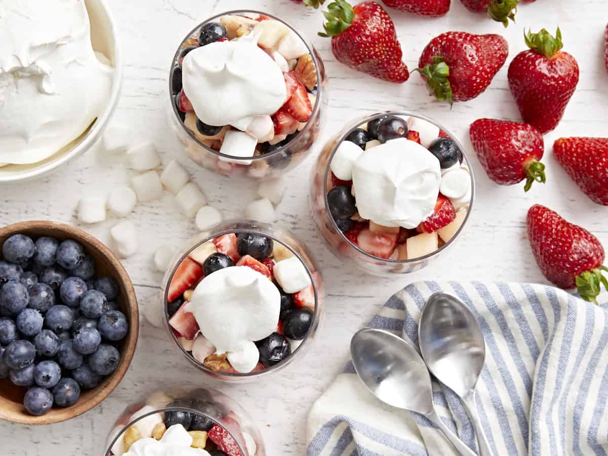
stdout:
[(553, 37), (547, 30), (525, 34), (530, 49), (516, 55), (509, 66), (508, 80), (523, 122), (545, 134), (558, 126), (576, 89), (579, 68), (572, 55), (562, 49), (562, 33)]

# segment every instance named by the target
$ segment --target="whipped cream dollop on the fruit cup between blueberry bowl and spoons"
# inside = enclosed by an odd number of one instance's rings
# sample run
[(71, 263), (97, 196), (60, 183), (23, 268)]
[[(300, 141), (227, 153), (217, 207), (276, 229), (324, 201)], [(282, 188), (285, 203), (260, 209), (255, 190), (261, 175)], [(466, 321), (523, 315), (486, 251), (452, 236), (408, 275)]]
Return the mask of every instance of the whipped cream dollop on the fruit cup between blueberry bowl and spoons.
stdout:
[(230, 266), (201, 280), (184, 309), (216, 353), (227, 353), (232, 367), (247, 373), (260, 358), (254, 341), (274, 332), (280, 308), (281, 294), (268, 277), (247, 266)]

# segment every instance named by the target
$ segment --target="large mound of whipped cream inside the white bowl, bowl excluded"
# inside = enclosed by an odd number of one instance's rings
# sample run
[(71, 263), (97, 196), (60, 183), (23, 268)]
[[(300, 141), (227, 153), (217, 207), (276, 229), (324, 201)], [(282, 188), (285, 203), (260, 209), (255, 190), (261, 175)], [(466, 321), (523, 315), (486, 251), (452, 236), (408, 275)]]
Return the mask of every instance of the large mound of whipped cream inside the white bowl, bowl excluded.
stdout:
[(84, 1), (2, 0), (0, 162), (36, 163), (77, 139), (103, 112), (112, 73)]

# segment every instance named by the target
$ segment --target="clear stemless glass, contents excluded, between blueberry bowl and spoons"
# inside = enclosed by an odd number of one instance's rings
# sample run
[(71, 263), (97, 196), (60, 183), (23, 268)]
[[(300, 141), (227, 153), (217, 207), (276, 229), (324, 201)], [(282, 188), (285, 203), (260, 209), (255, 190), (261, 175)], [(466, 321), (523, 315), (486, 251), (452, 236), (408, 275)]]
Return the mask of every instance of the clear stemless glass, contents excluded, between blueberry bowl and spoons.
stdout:
[[(258, 367), (249, 373), (237, 373), (217, 369), (213, 370), (202, 362), (204, 360), (196, 359), (195, 356), (190, 353), (192, 351), (192, 347), (188, 347), (190, 342), (188, 342), (188, 340), (184, 340), (183, 337), (180, 337), (179, 334), (176, 334), (176, 331), (173, 330), (170, 324), (171, 317), (169, 315), (167, 306), (171, 280), (173, 279), (176, 270), (182, 264), (182, 261), (190, 258), (189, 255), (192, 254), (192, 252), (201, 252), (201, 250), (206, 250), (206, 246), (210, 246), (211, 249), (214, 250), (215, 244), (213, 244), (213, 241), (218, 240), (218, 238), (224, 237), (224, 240), (229, 241), (230, 236), (239, 235), (240, 233), (252, 233), (271, 238), (275, 245), (274, 252), (277, 252), (274, 253), (274, 255), (277, 255), (275, 256), (275, 260), (280, 259), (278, 258), (278, 255), (281, 255), (282, 258), (292, 256), (298, 258), (302, 262), (304, 268), (306, 269), (306, 273), (311, 279), (311, 285), (302, 291), (309, 301), (308, 304), (304, 303), (304, 306), (309, 308), (309, 310), (313, 313), (311, 324), (305, 336), (302, 340), (289, 340), (291, 344), (291, 355), (289, 355), (288, 358), (283, 359), (283, 361), (278, 362), (278, 364), (263, 369), (261, 369), (260, 364), (258, 364)], [(277, 248), (279, 246), (280, 249)], [(198, 255), (195, 256), (199, 262), (202, 261), (201, 258), (198, 258)], [(163, 309), (162, 315), (164, 325), (167, 329), (167, 334), (170, 339), (173, 340), (175, 347), (178, 348), (182, 355), (186, 356), (186, 358), (200, 371), (227, 382), (253, 381), (258, 378), (266, 377), (271, 373), (282, 370), (287, 365), (291, 364), (295, 358), (302, 358), (305, 351), (308, 350), (309, 345), (312, 344), (312, 341), (316, 336), (323, 312), (323, 281), (321, 275), (317, 271), (313, 257), (309, 253), (308, 249), (306, 249), (302, 242), (300, 242), (287, 230), (283, 230), (276, 226), (259, 221), (244, 219), (226, 221), (206, 232), (202, 232), (190, 240), (185, 245), (184, 249), (175, 255), (173, 261), (171, 261), (171, 264), (167, 269), (167, 273), (165, 274), (162, 284), (160, 305)], [(204, 336), (204, 334), (202, 334), (202, 336)]]

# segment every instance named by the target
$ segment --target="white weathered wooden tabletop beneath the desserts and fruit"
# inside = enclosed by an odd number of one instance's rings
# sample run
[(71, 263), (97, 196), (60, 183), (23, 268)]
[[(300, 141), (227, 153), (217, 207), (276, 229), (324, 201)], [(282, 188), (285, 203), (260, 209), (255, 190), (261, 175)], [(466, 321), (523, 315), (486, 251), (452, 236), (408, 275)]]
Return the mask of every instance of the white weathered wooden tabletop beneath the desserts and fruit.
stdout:
[[(330, 0), (328, 0), (329, 2)], [(507, 64), (480, 97), (468, 103), (434, 103), (420, 77), (413, 74), (405, 84), (395, 85), (351, 71), (336, 62), (330, 40), (316, 36), (322, 15), (292, 4), (289, 0), (108, 0), (114, 12), (125, 56), (125, 83), (112, 122), (128, 125), (140, 139), (154, 140), (167, 163), (177, 157), (188, 165), (193, 179), (227, 217), (239, 216), (255, 198), (252, 182), (228, 181), (196, 168), (182, 153), (168, 128), (165, 86), (173, 52), (198, 22), (230, 9), (251, 7), (279, 15), (312, 38), (330, 76), (328, 125), (313, 157), (289, 175), (294, 182), (278, 208), (283, 226), (295, 232), (311, 248), (324, 272), (328, 293), (325, 321), (313, 348), (294, 366), (271, 378), (268, 384), (226, 385), (210, 382), (178, 356), (164, 330), (142, 324), (139, 347), (133, 364), (116, 391), (94, 410), (67, 423), (25, 427), (0, 423), (3, 456), (101, 456), (106, 433), (125, 405), (150, 385), (195, 382), (213, 385), (233, 396), (260, 423), (269, 455), (303, 455), (306, 448), (306, 416), (314, 400), (340, 371), (348, 353), (348, 342), (376, 309), (397, 289), (416, 280), (511, 280), (545, 283), (534, 263), (525, 230), (527, 209), (539, 202), (590, 229), (608, 247), (606, 207), (593, 204), (568, 179), (552, 156), (553, 140), (560, 136), (606, 136), (608, 121), (608, 74), (603, 63), (603, 31), (608, 17), (606, 0), (538, 0), (523, 4), (517, 24), (504, 30), (484, 16), (465, 10), (452, 0), (452, 10), (439, 19), (419, 18), (390, 12), (410, 69), (417, 66), (430, 38), (448, 30), (502, 33), (510, 43)], [(546, 185), (534, 184), (525, 194), (523, 185), (499, 187), (489, 181), (477, 158), (471, 155), (477, 178), (477, 200), (472, 219), (460, 241), (438, 264), (416, 274), (391, 279), (359, 274), (340, 263), (317, 233), (308, 213), (309, 170), (323, 140), (341, 128), (346, 119), (397, 108), (420, 111), (435, 117), (471, 147), (468, 127), (480, 117), (519, 120), (506, 81), (508, 63), (523, 50), (523, 27), (554, 32), (560, 26), (565, 50), (578, 60), (581, 80), (558, 130), (545, 136)], [(128, 182), (122, 165), (100, 165), (95, 153), (86, 154), (49, 178), (2, 187), (0, 223), (28, 219), (50, 219), (80, 226), (75, 218), (77, 201), (83, 194), (105, 193)], [(166, 193), (166, 192), (165, 192)], [(159, 299), (161, 274), (154, 272), (151, 256), (161, 243), (179, 243), (195, 233), (193, 221), (174, 208), (172, 197), (138, 206), (131, 219), (139, 229), (139, 252), (125, 261), (136, 285), (140, 302)], [(97, 226), (81, 226), (104, 241), (108, 220)]]

